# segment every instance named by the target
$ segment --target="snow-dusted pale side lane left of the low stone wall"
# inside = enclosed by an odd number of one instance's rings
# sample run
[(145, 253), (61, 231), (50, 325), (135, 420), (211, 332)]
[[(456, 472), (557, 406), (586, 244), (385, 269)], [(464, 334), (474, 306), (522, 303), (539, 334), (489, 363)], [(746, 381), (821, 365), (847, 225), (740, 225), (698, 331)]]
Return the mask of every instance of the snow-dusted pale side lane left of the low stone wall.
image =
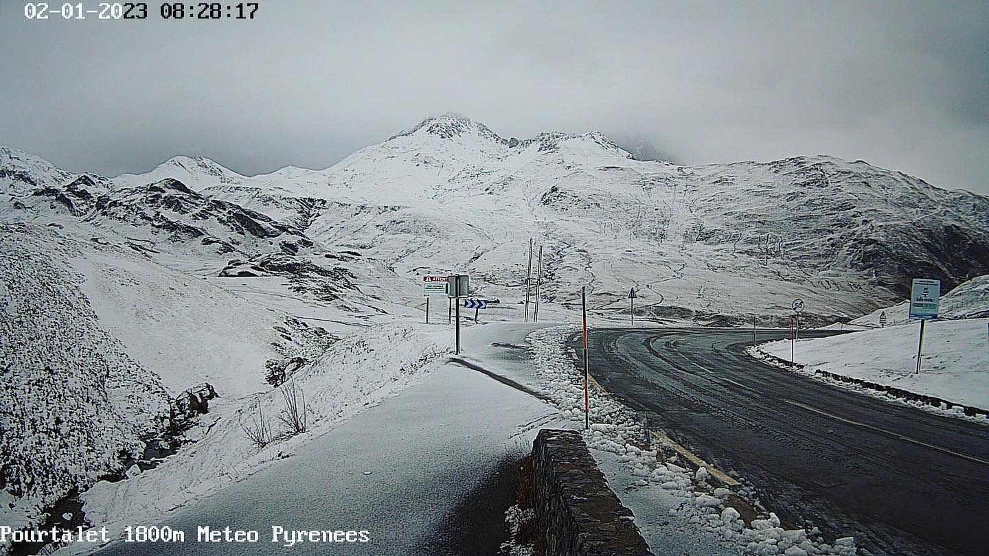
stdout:
[[(499, 336), (522, 344), (532, 328), (509, 326)], [(516, 376), (526, 372), (524, 350), (492, 347), (481, 329), (465, 330), (465, 357)], [(499, 352), (507, 355), (498, 360)], [(186, 542), (115, 542), (100, 554), (494, 553), (515, 494), (505, 462), (530, 449), (540, 426), (559, 425), (557, 416), (533, 396), (445, 364), (297, 455), (165, 517), (162, 523), (186, 532)], [(200, 525), (258, 530), (260, 540), (199, 543)], [(287, 548), (271, 541), (275, 525), (367, 530), (370, 541)]]

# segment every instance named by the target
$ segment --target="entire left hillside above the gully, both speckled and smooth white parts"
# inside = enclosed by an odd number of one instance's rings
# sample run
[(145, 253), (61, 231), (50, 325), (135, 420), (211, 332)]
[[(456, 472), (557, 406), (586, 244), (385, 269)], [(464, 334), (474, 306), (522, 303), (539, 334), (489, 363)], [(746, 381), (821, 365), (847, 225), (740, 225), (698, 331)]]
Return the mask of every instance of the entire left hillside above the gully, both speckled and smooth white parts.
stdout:
[(0, 225), (2, 522), (40, 522), (72, 490), (123, 471), (204, 382), (269, 391), (266, 362), (313, 360), (332, 338), (129, 247)]

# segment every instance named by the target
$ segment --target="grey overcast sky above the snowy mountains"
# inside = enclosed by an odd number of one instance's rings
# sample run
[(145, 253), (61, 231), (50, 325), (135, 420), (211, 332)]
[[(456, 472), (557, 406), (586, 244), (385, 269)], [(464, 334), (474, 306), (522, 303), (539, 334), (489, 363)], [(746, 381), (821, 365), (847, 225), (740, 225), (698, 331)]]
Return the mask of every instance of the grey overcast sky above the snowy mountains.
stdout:
[(503, 137), (599, 130), (690, 164), (828, 153), (989, 194), (985, 1), (261, 0), (254, 21), (0, 4), (0, 144), (72, 171), (323, 168), (457, 112)]

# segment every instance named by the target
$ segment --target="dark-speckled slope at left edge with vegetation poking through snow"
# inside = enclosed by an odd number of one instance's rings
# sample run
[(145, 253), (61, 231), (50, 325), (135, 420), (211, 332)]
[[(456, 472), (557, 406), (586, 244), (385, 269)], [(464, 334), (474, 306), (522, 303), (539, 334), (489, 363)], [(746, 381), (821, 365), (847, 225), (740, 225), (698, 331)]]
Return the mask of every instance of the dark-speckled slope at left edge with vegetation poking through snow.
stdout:
[(160, 378), (101, 328), (65, 259), (81, 250), (26, 227), (0, 227), (0, 454), (19, 500), (0, 522), (120, 472), (167, 416)]

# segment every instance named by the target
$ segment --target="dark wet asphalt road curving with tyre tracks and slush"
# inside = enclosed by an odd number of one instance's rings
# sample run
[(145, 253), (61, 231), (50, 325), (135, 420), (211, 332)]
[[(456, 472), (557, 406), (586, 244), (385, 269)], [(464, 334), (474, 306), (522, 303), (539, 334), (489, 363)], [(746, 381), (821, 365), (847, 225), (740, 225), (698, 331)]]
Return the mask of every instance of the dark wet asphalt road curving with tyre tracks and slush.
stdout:
[(987, 553), (989, 427), (778, 369), (746, 355), (751, 342), (752, 330), (594, 330), (591, 374), (653, 428), (738, 472), (784, 522), (854, 534), (872, 554)]

